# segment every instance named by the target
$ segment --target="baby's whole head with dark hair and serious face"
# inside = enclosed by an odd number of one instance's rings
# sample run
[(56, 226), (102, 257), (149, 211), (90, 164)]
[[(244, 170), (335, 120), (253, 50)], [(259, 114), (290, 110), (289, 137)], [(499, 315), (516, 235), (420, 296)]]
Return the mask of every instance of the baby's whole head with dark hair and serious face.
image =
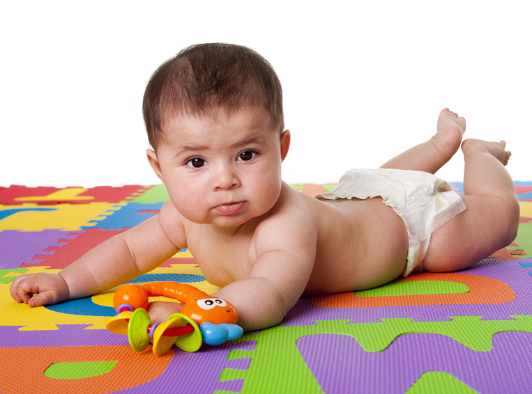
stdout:
[(152, 75), (144, 121), (150, 164), (186, 219), (238, 226), (277, 202), (290, 134), (280, 81), (256, 52), (183, 49)]

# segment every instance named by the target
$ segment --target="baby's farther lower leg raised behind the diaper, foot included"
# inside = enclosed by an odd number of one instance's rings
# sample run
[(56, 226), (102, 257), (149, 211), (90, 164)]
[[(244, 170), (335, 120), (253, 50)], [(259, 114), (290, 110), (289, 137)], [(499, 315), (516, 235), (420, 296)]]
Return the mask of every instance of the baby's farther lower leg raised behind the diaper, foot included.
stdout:
[(429, 141), (402, 152), (386, 161), (381, 168), (425, 171), (434, 174), (455, 155), (465, 131), (466, 120), (459, 118), (448, 108), (443, 109), (438, 118), (436, 134)]

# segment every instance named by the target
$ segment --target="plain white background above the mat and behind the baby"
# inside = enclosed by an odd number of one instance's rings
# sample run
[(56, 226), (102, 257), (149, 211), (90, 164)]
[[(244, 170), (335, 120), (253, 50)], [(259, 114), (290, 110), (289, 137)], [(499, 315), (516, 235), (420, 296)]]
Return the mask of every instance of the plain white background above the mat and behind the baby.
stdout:
[[(4, 1), (0, 186), (156, 184), (142, 95), (199, 42), (251, 47), (284, 90), (287, 182), (337, 182), (428, 139), (444, 107), (532, 180), (530, 1)], [(438, 175), (462, 180), (459, 152)]]

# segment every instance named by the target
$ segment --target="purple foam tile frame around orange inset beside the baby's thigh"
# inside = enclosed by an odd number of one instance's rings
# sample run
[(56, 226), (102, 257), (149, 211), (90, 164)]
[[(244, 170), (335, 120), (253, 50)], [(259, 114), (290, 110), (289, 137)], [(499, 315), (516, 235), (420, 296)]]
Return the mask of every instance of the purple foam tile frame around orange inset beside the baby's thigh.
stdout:
[(495, 278), (509, 285), (516, 299), (506, 304), (455, 304), (428, 306), (377, 306), (370, 308), (322, 308), (310, 299), (301, 299), (284, 317), (284, 326), (308, 326), (318, 320), (351, 319), (352, 323), (375, 323), (386, 317), (411, 317), (413, 322), (450, 321), (450, 316), (482, 316), (480, 320), (513, 320), (511, 315), (532, 315), (530, 289), (532, 267), (522, 267), (526, 259), (498, 261), (484, 259), (458, 274)]

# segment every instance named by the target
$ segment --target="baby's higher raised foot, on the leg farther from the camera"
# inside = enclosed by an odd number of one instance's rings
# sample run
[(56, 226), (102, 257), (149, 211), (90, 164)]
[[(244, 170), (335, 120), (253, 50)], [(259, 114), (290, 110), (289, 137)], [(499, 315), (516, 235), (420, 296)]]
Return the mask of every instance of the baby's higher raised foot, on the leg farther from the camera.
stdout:
[(440, 112), (437, 131), (430, 139), (447, 159), (453, 157), (462, 143), (466, 131), (466, 120), (448, 108)]

